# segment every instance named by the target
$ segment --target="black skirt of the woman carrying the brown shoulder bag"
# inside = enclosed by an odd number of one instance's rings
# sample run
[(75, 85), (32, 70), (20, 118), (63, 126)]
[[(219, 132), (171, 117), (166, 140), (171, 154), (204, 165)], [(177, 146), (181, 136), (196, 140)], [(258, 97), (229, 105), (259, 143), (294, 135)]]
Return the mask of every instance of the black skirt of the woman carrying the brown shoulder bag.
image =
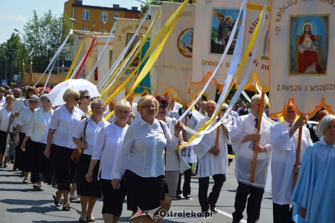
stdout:
[(77, 179), (77, 194), (93, 198), (101, 198), (101, 189), (97, 180), (99, 171), (99, 162), (93, 169), (92, 182), (87, 182), (85, 175), (87, 174), (89, 164), (91, 162), (91, 155), (81, 154), (78, 163), (78, 179)]

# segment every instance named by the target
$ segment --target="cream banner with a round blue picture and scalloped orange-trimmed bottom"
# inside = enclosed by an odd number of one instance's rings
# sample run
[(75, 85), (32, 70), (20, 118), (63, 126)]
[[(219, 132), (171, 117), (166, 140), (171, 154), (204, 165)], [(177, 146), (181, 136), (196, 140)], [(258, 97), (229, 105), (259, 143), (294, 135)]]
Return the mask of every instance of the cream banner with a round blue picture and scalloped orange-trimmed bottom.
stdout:
[[(164, 24), (179, 6), (179, 3), (162, 2), (161, 24)], [(158, 61), (156, 92), (169, 92), (181, 103), (187, 103), (188, 86), (191, 82), (194, 13), (195, 6), (188, 4), (166, 41)]]

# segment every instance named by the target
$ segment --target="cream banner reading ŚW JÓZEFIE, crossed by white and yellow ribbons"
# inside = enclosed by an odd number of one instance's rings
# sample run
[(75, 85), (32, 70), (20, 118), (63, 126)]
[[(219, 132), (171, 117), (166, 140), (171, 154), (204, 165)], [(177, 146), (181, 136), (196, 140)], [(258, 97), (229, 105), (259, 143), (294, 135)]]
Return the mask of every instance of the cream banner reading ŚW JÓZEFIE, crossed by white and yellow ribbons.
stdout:
[[(136, 29), (138, 28), (140, 24), (140, 20), (138, 19), (117, 19), (116, 20), (116, 28), (115, 28), (115, 39), (114, 39), (114, 46), (113, 46), (113, 55), (112, 55), (112, 65), (116, 61), (116, 59), (121, 54), (122, 50), (125, 48), (133, 34), (136, 32)], [(139, 30), (139, 35), (144, 35), (147, 33), (147, 30), (150, 25), (150, 20), (145, 21), (142, 27)], [(132, 48), (136, 45), (136, 43), (139, 41), (140, 36), (137, 36), (134, 41), (132, 42), (131, 46), (129, 47), (128, 51), (126, 52), (124, 59), (127, 57), (127, 55), (130, 53)], [(142, 54), (142, 52), (141, 52)], [(122, 84), (128, 76), (131, 74), (131, 72), (136, 69), (137, 66), (140, 65), (141, 62), (141, 54), (133, 60), (133, 62), (127, 66), (127, 69), (124, 70), (121, 75), (119, 76), (118, 80), (116, 81), (114, 89), (116, 89), (120, 84)], [(124, 60), (122, 59), (121, 62)], [(131, 80), (127, 83), (125, 86), (126, 90), (130, 90), (133, 84), (135, 83), (136, 78), (138, 77), (138, 74), (134, 75)], [(148, 86), (150, 87), (150, 86)]]

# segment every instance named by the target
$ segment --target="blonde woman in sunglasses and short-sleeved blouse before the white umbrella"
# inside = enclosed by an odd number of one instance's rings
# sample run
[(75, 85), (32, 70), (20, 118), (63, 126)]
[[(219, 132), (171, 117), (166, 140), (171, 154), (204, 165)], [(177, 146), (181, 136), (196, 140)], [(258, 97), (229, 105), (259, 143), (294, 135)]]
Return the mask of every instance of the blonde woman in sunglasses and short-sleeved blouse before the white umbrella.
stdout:
[[(58, 107), (50, 121), (47, 144), (44, 155), (50, 158), (51, 148), (53, 150), (53, 175), (48, 183), (57, 188), (53, 194), (54, 204), (60, 207), (60, 199), (63, 195), (63, 211), (70, 211), (70, 183), (76, 167), (76, 163), (71, 160), (71, 153), (76, 148), (72, 140), (72, 134), (84, 113), (77, 108), (80, 93), (74, 89), (66, 89), (63, 94), (64, 105)], [(51, 145), (52, 142), (52, 145)]]

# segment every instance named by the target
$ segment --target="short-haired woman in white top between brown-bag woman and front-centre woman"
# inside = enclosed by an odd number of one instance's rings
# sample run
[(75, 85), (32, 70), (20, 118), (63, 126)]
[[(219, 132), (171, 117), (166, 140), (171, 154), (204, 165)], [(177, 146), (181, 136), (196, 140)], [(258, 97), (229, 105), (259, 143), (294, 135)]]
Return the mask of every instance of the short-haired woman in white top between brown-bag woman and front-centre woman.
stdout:
[[(124, 135), (128, 129), (126, 122), (131, 113), (130, 103), (121, 100), (114, 106), (115, 122), (103, 126), (97, 135), (91, 163), (86, 174), (87, 182), (96, 180), (93, 172), (98, 167), (99, 183), (103, 194), (103, 210), (104, 221), (117, 222), (121, 213), (126, 190), (123, 180), (120, 181), (121, 187), (113, 189), (112, 173), (115, 164), (115, 157), (121, 149)], [(96, 165), (100, 160), (100, 165)]]

